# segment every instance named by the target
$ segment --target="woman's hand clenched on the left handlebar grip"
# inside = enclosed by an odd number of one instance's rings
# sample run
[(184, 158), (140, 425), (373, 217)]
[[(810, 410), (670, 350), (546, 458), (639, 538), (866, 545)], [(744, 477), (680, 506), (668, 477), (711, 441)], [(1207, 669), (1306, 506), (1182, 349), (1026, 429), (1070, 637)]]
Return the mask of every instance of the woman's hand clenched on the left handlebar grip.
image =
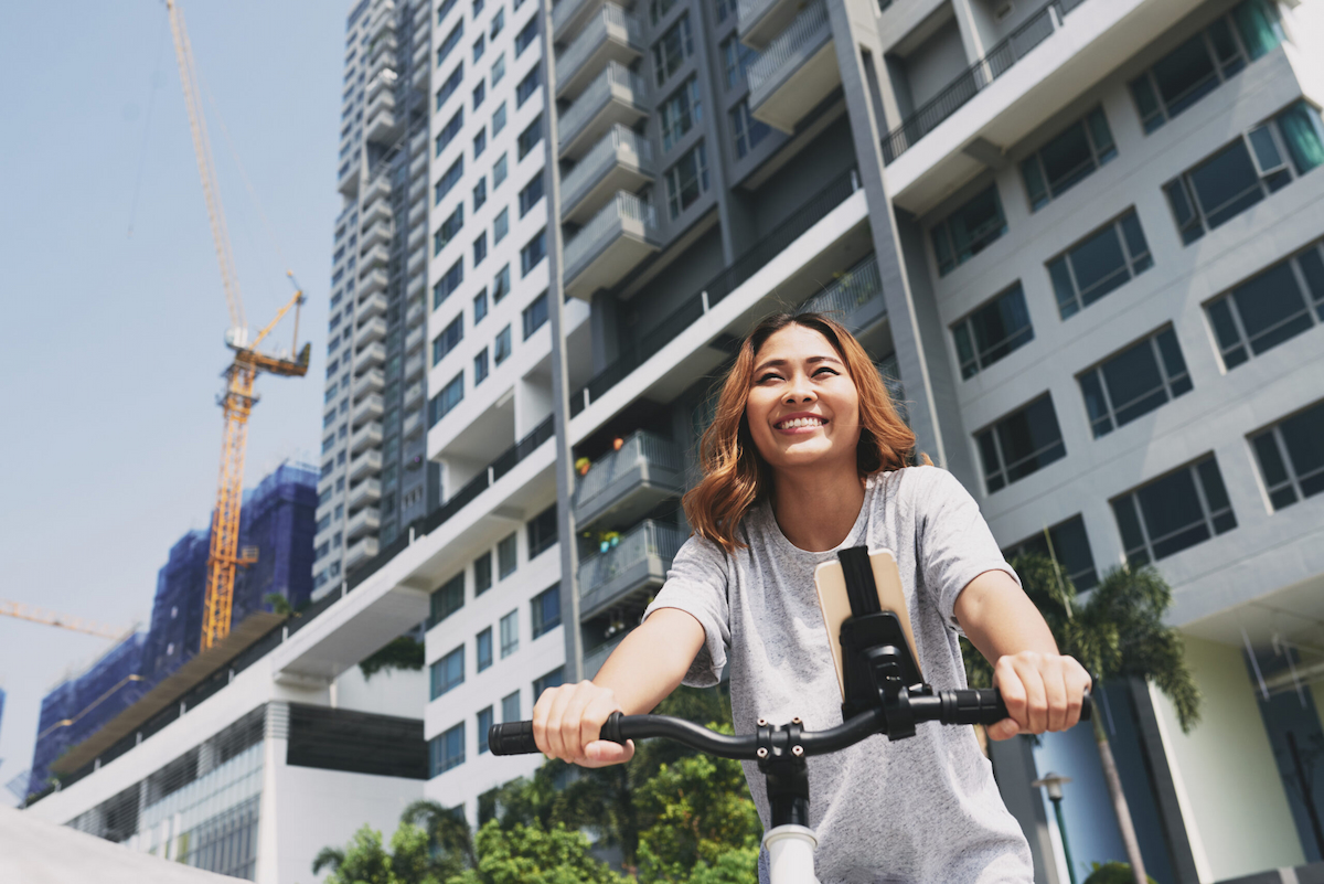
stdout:
[(634, 741), (622, 746), (598, 740), (608, 716), (621, 708), (610, 688), (592, 682), (563, 684), (543, 691), (534, 704), (534, 740), (538, 750), (581, 768), (618, 765), (634, 757)]

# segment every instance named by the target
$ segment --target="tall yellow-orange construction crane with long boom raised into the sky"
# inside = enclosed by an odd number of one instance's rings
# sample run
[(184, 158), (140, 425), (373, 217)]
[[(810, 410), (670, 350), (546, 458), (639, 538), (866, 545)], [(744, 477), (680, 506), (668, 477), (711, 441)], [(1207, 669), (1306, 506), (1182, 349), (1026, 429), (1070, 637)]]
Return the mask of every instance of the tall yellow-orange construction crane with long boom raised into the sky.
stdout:
[[(212, 540), (207, 558), (207, 601), (203, 609), (201, 650), (207, 650), (224, 639), (230, 631), (230, 605), (234, 597), (234, 576), (240, 568), (256, 561), (253, 551), (240, 551), (240, 508), (244, 502), (244, 453), (248, 447), (248, 420), (258, 397), (253, 393), (253, 382), (258, 372), (269, 372), (285, 377), (302, 377), (308, 371), (311, 347), (303, 345), (297, 359), (283, 355), (258, 352), (258, 345), (271, 333), (277, 323), (294, 308), (294, 345), (290, 355), (298, 351), (299, 306), (303, 292), (295, 283), (294, 296), (281, 307), (275, 319), (248, 339), (248, 323), (244, 316), (244, 299), (240, 295), (238, 278), (234, 273), (234, 255), (230, 251), (230, 237), (225, 226), (225, 213), (221, 209), (221, 193), (216, 181), (216, 167), (212, 163), (212, 146), (207, 135), (207, 119), (203, 116), (197, 71), (193, 67), (193, 49), (184, 28), (184, 13), (175, 0), (166, 0), (169, 15), (171, 36), (175, 40), (175, 58), (179, 62), (179, 77), (184, 86), (184, 105), (188, 107), (188, 122), (193, 132), (193, 152), (197, 155), (197, 172), (203, 179), (203, 196), (207, 200), (207, 216), (212, 224), (212, 240), (216, 243), (216, 259), (221, 266), (221, 286), (230, 311), (230, 328), (225, 333), (225, 344), (234, 351), (234, 360), (225, 369), (225, 392), (217, 402), (225, 413), (225, 437), (221, 445), (221, 470), (216, 490), (216, 508), (212, 511)], [(294, 274), (286, 273), (290, 281)]]

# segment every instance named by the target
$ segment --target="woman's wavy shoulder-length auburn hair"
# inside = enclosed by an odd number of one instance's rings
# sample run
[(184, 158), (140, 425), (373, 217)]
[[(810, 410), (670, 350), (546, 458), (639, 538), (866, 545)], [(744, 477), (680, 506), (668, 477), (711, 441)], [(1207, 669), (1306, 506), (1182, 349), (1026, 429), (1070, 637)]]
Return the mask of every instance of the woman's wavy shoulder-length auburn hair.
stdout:
[[(904, 467), (915, 454), (915, 434), (896, 414), (887, 388), (869, 353), (841, 323), (822, 314), (773, 314), (749, 332), (722, 385), (712, 423), (699, 443), (703, 479), (683, 499), (685, 516), (695, 533), (719, 544), (728, 553), (741, 547), (736, 540), (740, 519), (772, 488), (772, 474), (749, 434), (745, 402), (753, 386), (755, 356), (772, 335), (788, 326), (802, 326), (828, 339), (859, 392), (859, 445), (855, 464), (859, 475)], [(928, 458), (923, 458), (928, 462)]]

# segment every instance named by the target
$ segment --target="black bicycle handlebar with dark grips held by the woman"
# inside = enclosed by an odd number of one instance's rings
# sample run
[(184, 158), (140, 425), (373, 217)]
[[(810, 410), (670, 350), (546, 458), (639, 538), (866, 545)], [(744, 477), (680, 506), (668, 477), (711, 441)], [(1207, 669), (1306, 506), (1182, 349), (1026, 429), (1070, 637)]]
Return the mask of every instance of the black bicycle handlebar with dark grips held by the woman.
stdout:
[[(997, 724), (1008, 717), (1006, 704), (997, 688), (965, 688), (960, 691), (939, 691), (937, 693), (918, 693), (910, 697), (914, 720), (937, 721), (939, 724)], [(1084, 695), (1080, 707), (1080, 720), (1087, 721), (1092, 711), (1090, 693)], [(798, 723), (797, 723), (798, 724)], [(797, 729), (798, 730), (798, 729)], [(802, 730), (797, 734), (797, 745), (805, 756), (822, 756), (839, 752), (861, 742), (875, 733), (886, 733), (887, 721), (882, 709), (869, 709), (847, 721), (826, 730)], [(646, 740), (665, 737), (675, 740), (698, 752), (720, 758), (755, 761), (759, 758), (759, 736), (728, 736), (708, 728), (673, 719), (665, 715), (622, 715), (613, 712), (602, 724), (601, 738), (625, 744), (626, 740)], [(789, 749), (792, 734), (789, 729), (776, 728), (769, 734), (773, 750)], [(494, 724), (487, 730), (487, 748), (494, 756), (518, 756), (538, 752), (534, 741), (532, 721), (507, 721)]]

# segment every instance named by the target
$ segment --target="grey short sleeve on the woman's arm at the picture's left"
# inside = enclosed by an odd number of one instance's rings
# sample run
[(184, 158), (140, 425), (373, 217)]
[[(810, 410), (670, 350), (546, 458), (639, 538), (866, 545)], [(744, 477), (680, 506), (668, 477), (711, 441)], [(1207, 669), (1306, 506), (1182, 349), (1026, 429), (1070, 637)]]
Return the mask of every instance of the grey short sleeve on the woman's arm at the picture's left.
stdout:
[(703, 647), (690, 664), (683, 684), (707, 688), (720, 682), (727, 648), (731, 647), (727, 556), (722, 548), (698, 535), (685, 541), (671, 560), (666, 582), (643, 611), (643, 619), (659, 607), (686, 611), (703, 626)]

